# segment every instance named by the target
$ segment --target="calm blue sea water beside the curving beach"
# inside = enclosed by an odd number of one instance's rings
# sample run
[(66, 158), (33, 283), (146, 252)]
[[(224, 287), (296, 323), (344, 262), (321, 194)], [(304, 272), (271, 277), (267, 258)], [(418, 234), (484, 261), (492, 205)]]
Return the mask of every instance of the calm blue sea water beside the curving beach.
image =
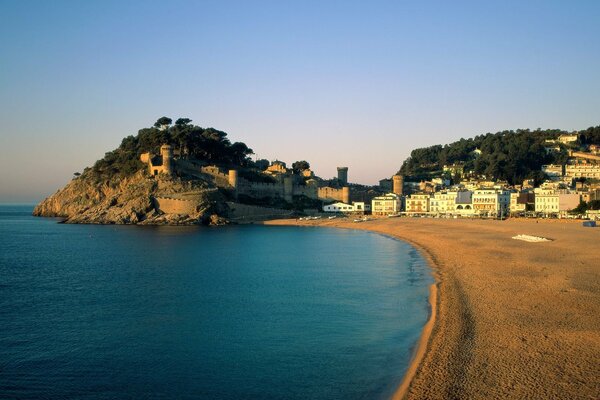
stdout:
[(377, 399), (428, 316), (409, 245), (0, 207), (0, 398)]

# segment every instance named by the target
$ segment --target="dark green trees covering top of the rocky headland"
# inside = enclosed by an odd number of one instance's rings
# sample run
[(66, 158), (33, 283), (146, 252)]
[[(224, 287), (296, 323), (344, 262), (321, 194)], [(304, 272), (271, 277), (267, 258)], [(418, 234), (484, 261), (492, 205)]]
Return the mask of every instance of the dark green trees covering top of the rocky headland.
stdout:
[(231, 144), (227, 133), (214, 128), (201, 128), (190, 124), (191, 119), (179, 118), (175, 125), (172, 120), (161, 117), (154, 127), (143, 128), (136, 136), (127, 136), (114, 151), (106, 153), (87, 171), (97, 179), (112, 176), (129, 176), (144, 167), (140, 161), (142, 153), (159, 154), (160, 146), (171, 144), (182, 157), (191, 157), (211, 164), (226, 167), (248, 167), (252, 164), (249, 156), (252, 149), (244, 143)]

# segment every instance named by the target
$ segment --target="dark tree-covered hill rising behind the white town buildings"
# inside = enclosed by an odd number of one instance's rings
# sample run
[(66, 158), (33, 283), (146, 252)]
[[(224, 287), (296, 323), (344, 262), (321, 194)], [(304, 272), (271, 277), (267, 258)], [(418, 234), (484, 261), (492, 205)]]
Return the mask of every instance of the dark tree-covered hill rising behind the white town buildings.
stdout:
[[(558, 129), (518, 129), (486, 133), (443, 146), (419, 148), (411, 152), (399, 173), (409, 179), (427, 179), (443, 175), (444, 165), (457, 164), (463, 167), (465, 174), (472, 171), (476, 175), (506, 180), (511, 184), (524, 179), (539, 182), (544, 179), (542, 165), (564, 164), (568, 159), (568, 146), (560, 144), (560, 151), (547, 151), (545, 141), (567, 133)], [(590, 144), (600, 144), (600, 126), (580, 131), (578, 135), (575, 148), (585, 149)]]

